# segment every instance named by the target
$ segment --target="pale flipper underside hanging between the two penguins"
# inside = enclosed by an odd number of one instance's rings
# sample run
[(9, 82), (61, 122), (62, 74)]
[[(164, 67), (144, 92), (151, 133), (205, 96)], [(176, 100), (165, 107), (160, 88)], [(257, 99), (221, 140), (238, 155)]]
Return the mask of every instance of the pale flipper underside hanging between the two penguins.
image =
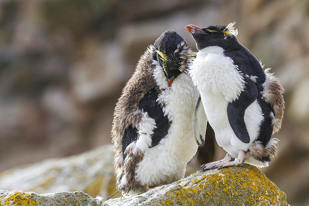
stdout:
[(195, 141), (200, 147), (202, 147), (205, 143), (206, 126), (207, 116), (201, 101), (201, 95), (199, 95), (193, 113), (193, 133)]

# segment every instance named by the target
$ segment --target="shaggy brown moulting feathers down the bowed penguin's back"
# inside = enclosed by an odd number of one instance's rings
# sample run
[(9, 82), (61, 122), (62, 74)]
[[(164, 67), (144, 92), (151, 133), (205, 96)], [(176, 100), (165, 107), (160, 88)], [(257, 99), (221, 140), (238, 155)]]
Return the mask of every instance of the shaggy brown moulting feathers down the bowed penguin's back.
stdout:
[[(122, 137), (124, 136), (125, 129), (129, 125), (136, 128), (138, 122), (142, 119), (142, 111), (139, 109), (138, 103), (144, 95), (153, 88), (156, 88), (157, 91), (159, 90), (153, 77), (155, 66), (152, 65), (152, 51), (153, 46), (150, 45), (140, 57), (132, 77), (125, 84), (121, 97), (116, 103), (111, 134), (112, 143), (114, 144), (114, 166), (117, 179), (121, 177), (121, 168), (124, 165)], [(127, 158), (130, 158), (129, 153), (127, 155)], [(129, 170), (130, 168), (123, 169)], [(135, 170), (135, 167), (133, 169)], [(129, 171), (131, 170), (132, 168)]]

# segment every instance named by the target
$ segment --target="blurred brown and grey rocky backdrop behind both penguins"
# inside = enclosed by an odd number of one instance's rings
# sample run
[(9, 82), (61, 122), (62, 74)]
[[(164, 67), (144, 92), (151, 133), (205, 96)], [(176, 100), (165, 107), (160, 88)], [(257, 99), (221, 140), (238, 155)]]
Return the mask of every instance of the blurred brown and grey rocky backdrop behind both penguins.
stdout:
[[(307, 0), (2, 0), (0, 171), (110, 144), (115, 103), (147, 45), (175, 29), (196, 50), (186, 25), (233, 21), (286, 89), (279, 156), (261, 170), (291, 205), (309, 204)], [(213, 158), (224, 155), (216, 146)]]

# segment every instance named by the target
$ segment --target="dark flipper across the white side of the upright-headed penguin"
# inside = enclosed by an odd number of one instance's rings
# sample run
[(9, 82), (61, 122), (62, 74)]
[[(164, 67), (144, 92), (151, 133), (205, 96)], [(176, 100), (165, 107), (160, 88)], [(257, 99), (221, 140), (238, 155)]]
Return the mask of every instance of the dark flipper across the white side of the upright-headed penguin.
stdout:
[(258, 92), (256, 84), (250, 78), (244, 80), (246, 87), (240, 93), (239, 98), (227, 105), (227, 117), (236, 137), (244, 143), (249, 143), (250, 137), (244, 116), (246, 109), (256, 100)]

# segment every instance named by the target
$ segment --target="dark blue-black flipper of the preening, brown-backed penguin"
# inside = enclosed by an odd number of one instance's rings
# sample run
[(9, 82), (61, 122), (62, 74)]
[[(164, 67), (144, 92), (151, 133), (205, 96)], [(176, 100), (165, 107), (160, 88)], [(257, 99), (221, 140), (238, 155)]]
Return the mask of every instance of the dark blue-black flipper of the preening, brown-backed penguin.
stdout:
[(167, 135), (168, 128), (171, 125), (168, 117), (164, 116), (157, 99), (158, 93), (155, 89), (152, 89), (140, 100), (138, 105), (143, 112), (147, 112), (148, 116), (155, 120), (156, 127), (153, 129), (153, 133), (151, 134), (151, 145), (149, 147), (158, 145), (160, 140)]

